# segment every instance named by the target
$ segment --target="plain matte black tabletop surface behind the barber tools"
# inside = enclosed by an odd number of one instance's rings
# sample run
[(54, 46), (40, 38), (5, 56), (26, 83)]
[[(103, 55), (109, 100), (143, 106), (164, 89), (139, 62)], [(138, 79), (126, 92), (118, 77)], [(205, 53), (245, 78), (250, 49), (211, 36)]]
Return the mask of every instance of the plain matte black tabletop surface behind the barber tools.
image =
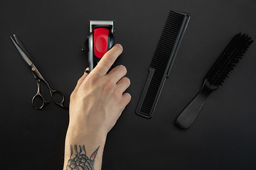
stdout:
[[(174, 120), (237, 33), (256, 40), (256, 1), (1, 1), (0, 169), (62, 169), (68, 111), (31, 105), (36, 81), (13, 42), (67, 103), (86, 67), (81, 46), (89, 20), (114, 20), (124, 47), (132, 101), (107, 136), (102, 169), (256, 169), (256, 42), (225, 84), (211, 94), (188, 130)], [(151, 119), (135, 114), (169, 11), (191, 14), (170, 77)], [(45, 86), (43, 86), (45, 87)], [(50, 100), (46, 87), (43, 95)]]

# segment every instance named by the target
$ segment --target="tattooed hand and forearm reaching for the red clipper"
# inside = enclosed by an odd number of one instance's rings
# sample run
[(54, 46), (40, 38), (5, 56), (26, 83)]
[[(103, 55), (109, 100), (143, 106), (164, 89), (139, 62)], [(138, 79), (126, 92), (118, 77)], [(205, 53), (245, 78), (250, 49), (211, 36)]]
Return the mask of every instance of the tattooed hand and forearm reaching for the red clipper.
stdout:
[(122, 46), (114, 45), (71, 94), (63, 169), (101, 169), (107, 133), (131, 100), (124, 93), (130, 85), (127, 69), (119, 65), (107, 73), (121, 53)]

